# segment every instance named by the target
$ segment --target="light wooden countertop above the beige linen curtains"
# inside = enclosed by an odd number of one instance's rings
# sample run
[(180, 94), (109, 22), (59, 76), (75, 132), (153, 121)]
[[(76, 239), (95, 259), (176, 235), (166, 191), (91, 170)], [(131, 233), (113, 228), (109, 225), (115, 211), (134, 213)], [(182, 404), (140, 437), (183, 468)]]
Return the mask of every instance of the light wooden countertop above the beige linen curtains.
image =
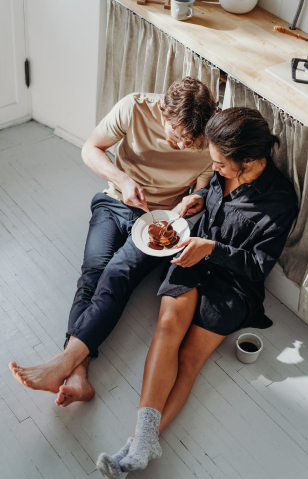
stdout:
[[(308, 43), (273, 30), (274, 25), (289, 28), (290, 24), (260, 7), (234, 15), (217, 0), (197, 0), (195, 14), (186, 22), (172, 18), (163, 4), (117, 1), (308, 125), (307, 97), (265, 71), (293, 57), (307, 56)], [(308, 37), (301, 30), (296, 33)]]

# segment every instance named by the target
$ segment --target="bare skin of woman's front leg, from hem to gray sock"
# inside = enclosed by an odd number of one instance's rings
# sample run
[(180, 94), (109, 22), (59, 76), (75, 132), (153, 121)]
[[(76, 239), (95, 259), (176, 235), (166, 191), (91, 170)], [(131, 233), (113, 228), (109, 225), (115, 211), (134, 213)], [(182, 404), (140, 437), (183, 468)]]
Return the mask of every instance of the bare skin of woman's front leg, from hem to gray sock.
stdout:
[(179, 348), (197, 306), (194, 288), (177, 298), (163, 296), (158, 323), (146, 358), (139, 408), (162, 413), (178, 375)]

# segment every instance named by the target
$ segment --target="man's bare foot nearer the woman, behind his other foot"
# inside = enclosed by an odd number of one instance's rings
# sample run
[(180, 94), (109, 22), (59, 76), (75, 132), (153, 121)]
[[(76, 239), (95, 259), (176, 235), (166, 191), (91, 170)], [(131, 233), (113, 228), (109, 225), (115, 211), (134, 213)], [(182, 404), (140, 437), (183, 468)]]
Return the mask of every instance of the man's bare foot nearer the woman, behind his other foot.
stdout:
[(90, 401), (95, 396), (95, 391), (88, 380), (88, 364), (89, 358), (86, 358), (74, 369), (66, 383), (60, 386), (56, 399), (57, 406), (65, 407), (76, 401)]

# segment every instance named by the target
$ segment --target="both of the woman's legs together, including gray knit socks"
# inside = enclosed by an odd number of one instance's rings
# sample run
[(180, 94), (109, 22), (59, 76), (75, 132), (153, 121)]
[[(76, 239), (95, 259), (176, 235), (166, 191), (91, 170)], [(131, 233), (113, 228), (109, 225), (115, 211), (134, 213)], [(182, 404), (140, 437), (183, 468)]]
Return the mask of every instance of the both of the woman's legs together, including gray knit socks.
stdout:
[[(202, 365), (224, 339), (190, 326), (197, 301), (196, 289), (177, 298), (163, 297), (144, 369), (136, 438), (129, 451), (119, 457), (102, 454), (98, 462), (101, 472), (112, 472), (113, 477), (122, 478), (123, 471), (143, 469), (148, 460), (160, 456), (158, 432), (182, 409)], [(160, 427), (159, 412), (163, 412)], [(140, 418), (139, 413), (148, 418)]]

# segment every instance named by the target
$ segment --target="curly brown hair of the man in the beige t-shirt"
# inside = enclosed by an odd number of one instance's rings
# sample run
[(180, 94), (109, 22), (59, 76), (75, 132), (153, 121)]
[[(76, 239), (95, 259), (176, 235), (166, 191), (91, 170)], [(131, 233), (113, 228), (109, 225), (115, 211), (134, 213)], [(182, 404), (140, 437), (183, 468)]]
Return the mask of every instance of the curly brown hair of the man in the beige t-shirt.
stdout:
[(173, 82), (160, 108), (172, 128), (183, 127), (182, 136), (192, 140), (193, 148), (202, 150), (206, 146), (205, 126), (217, 104), (204, 83), (192, 77)]

